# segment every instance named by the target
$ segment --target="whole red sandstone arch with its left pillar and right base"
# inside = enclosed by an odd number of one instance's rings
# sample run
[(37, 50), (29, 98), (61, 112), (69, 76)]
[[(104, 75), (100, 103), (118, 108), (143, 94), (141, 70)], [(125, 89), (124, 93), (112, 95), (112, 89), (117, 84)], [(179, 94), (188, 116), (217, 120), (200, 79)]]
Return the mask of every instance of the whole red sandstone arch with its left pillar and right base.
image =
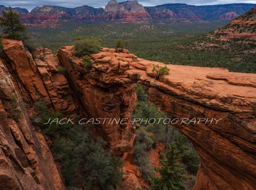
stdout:
[[(177, 123), (201, 157), (195, 189), (254, 189), (256, 88), (255, 74), (230, 73), (227, 69), (168, 65), (170, 75), (154, 78), (152, 65), (126, 50), (117, 53), (103, 48), (92, 55), (91, 69), (72, 54), (73, 47), (58, 52), (67, 68), (72, 87), (81, 92), (84, 108), (92, 117), (131, 117), (135, 95), (133, 85), (145, 86), (150, 101), (170, 118), (209, 118), (218, 123)], [(153, 77), (153, 78), (152, 78)], [(121, 154), (131, 150), (127, 138), (131, 122), (124, 126), (100, 126), (100, 131)], [(126, 146), (125, 146), (126, 145)]]

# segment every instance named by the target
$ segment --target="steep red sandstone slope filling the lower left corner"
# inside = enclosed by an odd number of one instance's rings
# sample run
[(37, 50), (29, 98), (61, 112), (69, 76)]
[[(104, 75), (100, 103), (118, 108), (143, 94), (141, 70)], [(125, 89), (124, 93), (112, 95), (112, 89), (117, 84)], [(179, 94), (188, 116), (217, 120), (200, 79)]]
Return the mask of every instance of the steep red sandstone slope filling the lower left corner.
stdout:
[[(20, 71), (23, 69), (21, 64), (25, 66), (26, 62), (19, 48), (19, 43), (13, 46), (16, 56), (21, 58)], [(11, 66), (10, 62), (5, 61), (0, 59), (0, 189), (64, 190), (51, 151), (28, 118), (17, 83), (19, 78), (14, 79), (10, 75), (10, 68), (6, 67), (6, 63)], [(18, 109), (21, 110), (19, 122), (7, 118), (12, 94), (16, 95)]]

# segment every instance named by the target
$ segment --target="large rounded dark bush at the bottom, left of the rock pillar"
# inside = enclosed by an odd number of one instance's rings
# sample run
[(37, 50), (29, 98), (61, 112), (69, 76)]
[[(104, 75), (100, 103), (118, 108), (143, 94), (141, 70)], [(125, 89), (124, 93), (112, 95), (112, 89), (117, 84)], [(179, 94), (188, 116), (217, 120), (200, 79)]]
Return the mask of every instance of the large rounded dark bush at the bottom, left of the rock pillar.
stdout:
[(67, 137), (53, 145), (56, 161), (62, 163), (67, 186), (78, 189), (116, 189), (122, 180), (122, 163), (104, 150), (106, 142), (94, 140), (82, 126), (74, 126)]

